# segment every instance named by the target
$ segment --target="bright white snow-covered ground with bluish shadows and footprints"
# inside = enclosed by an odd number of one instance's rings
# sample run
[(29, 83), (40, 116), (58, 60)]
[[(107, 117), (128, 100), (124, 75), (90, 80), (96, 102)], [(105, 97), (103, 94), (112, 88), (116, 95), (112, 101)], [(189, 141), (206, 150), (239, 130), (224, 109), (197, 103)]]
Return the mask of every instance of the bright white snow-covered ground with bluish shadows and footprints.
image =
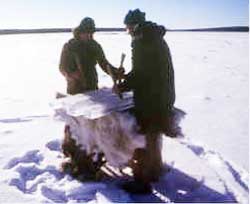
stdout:
[[(152, 195), (135, 196), (117, 182), (80, 183), (58, 170), (64, 124), (49, 103), (65, 92), (58, 72), (71, 34), (0, 36), (0, 203), (248, 202), (248, 33), (167, 33), (184, 139), (163, 138), (170, 171)], [(98, 33), (115, 66), (130, 37)], [(100, 87), (112, 81), (99, 69)]]

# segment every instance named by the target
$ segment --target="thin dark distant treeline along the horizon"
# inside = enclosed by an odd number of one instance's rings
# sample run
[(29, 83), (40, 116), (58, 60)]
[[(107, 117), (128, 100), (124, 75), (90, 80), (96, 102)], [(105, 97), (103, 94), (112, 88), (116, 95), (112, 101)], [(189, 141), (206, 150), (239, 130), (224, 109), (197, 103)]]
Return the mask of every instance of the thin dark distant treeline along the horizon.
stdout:
[[(97, 32), (124, 32), (125, 28), (97, 28)], [(167, 29), (173, 32), (249, 32), (248, 26), (199, 28), (199, 29)], [(71, 28), (40, 28), (40, 29), (0, 29), (0, 35), (25, 33), (68, 33)]]

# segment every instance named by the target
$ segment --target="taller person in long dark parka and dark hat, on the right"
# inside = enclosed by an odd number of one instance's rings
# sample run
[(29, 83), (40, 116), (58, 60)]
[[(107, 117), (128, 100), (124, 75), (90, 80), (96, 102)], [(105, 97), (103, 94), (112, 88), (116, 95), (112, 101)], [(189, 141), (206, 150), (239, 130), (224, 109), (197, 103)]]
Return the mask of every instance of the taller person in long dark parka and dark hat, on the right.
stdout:
[(132, 167), (135, 181), (143, 184), (134, 187), (143, 192), (162, 170), (160, 134), (168, 129), (175, 102), (174, 69), (163, 26), (145, 21), (139, 9), (129, 11), (124, 23), (132, 36), (132, 71), (119, 88), (133, 91), (135, 117), (146, 135), (146, 150), (136, 151)]

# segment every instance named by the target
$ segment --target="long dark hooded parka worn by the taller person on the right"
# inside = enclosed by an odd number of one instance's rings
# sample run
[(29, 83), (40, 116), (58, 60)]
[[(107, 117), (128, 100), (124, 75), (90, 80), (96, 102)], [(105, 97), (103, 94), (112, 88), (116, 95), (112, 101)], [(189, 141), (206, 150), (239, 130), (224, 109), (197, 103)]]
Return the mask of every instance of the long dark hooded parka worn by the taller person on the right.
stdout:
[(162, 131), (175, 102), (174, 69), (165, 28), (137, 25), (132, 41), (132, 71), (125, 86), (134, 92), (135, 114), (142, 128)]

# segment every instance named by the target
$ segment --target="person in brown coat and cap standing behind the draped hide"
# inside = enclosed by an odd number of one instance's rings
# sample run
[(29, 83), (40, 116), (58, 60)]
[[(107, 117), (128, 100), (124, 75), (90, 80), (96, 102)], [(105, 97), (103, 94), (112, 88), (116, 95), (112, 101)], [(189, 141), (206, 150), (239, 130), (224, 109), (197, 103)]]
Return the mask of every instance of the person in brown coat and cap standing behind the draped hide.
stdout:
[(107, 74), (118, 76), (119, 69), (108, 62), (101, 45), (94, 40), (94, 32), (94, 20), (86, 17), (63, 46), (59, 69), (67, 81), (68, 94), (98, 89), (97, 63)]

